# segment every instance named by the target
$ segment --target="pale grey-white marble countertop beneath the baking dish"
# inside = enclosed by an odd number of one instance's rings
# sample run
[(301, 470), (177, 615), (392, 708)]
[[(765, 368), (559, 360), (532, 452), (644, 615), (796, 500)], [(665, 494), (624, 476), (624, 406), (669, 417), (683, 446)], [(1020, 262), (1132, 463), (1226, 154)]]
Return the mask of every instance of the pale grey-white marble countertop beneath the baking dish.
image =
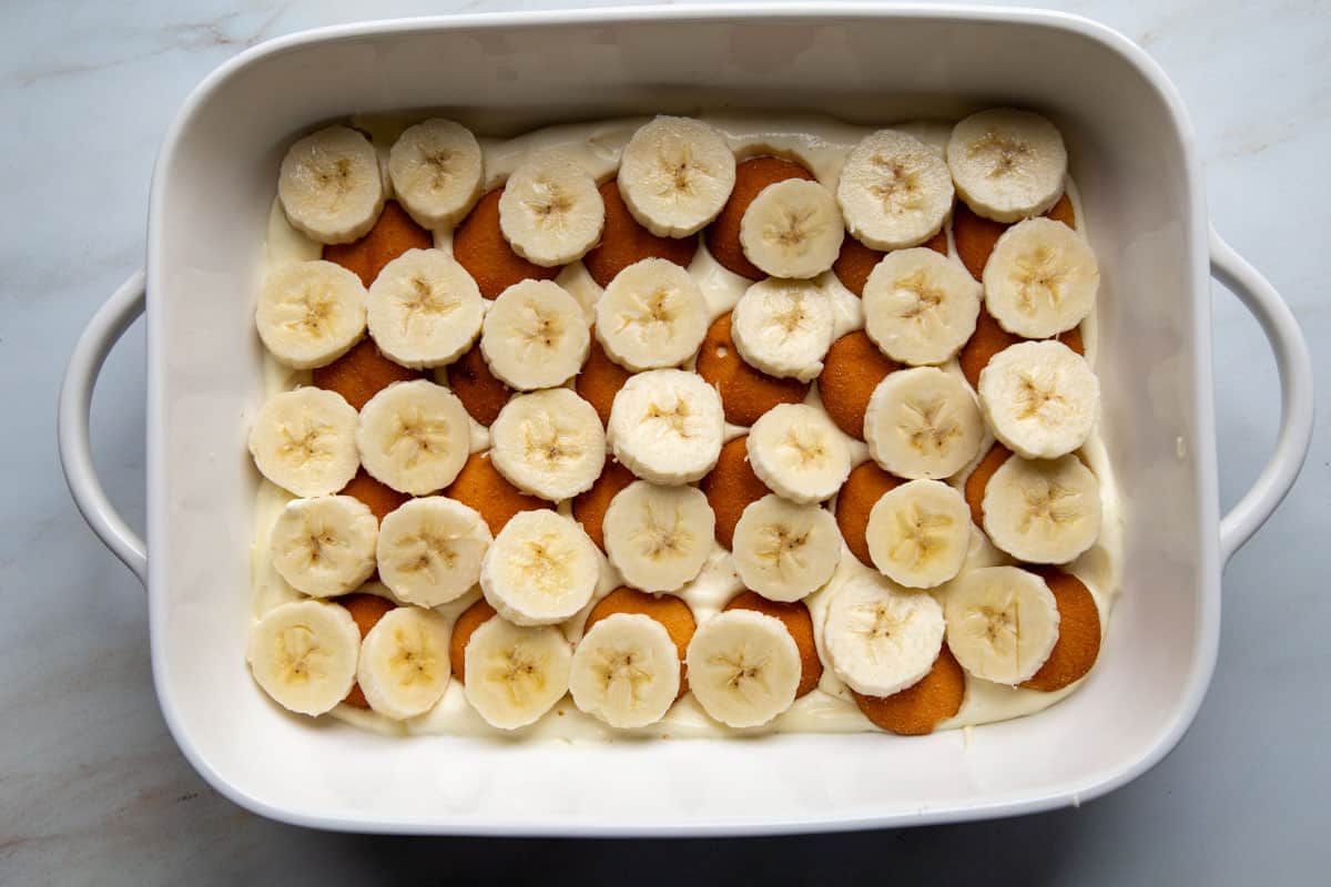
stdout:
[[(142, 262), (148, 182), (184, 96), (245, 47), (366, 12), (405, 16), (567, 5), (471, 0), (11, 0), (0, 29), (4, 443), (0, 509), (0, 880), (297, 883), (447, 872), (580, 880), (685, 862), (736, 880), (817, 871), (1077, 883), (1322, 880), (1331, 795), (1331, 15), (1324, 1), (1055, 4), (1139, 41), (1174, 78), (1206, 162), (1217, 229), (1283, 291), (1314, 347), (1320, 416), (1303, 477), (1225, 574), (1219, 665), (1162, 765), (1079, 810), (893, 834), (500, 847), (329, 835), (266, 822), (214, 794), (157, 709), (144, 592), (87, 531), (55, 448), (56, 387), (83, 323)], [(598, 5), (598, 4), (584, 4)], [(1222, 501), (1255, 477), (1279, 412), (1256, 323), (1215, 287)], [(144, 520), (144, 339), (113, 352), (93, 412), (112, 499)], [(680, 856), (679, 854), (683, 854)], [(438, 875), (437, 875), (438, 876)]]

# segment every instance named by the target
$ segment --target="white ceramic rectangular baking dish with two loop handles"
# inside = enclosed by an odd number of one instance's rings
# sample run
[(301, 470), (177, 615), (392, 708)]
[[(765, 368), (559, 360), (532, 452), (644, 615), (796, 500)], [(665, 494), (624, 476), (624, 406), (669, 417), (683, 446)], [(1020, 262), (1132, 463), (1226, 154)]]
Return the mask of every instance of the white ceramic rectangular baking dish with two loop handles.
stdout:
[[(506, 743), (383, 738), (287, 717), (242, 665), (260, 392), (252, 305), (284, 145), (351, 112), (443, 106), (483, 130), (630, 112), (817, 110), (861, 122), (1013, 102), (1067, 140), (1103, 269), (1105, 440), (1122, 484), (1123, 593), (1085, 686), (1036, 717), (924, 738)], [(166, 136), (149, 217), (148, 545), (88, 448), (101, 362), (145, 307), (132, 278), (75, 351), (60, 447), (75, 499), (148, 585), (162, 711), (189, 761), (265, 815), (399, 832), (699, 835), (865, 828), (1078, 803), (1179, 739), (1215, 662), (1225, 560), (1294, 483), (1307, 348), (1276, 293), (1209, 233), (1193, 130), (1139, 48), (1000, 9), (668, 8), (425, 19), (285, 37), (221, 66)], [(1271, 463), (1217, 507), (1211, 274), (1275, 350)], [(148, 557), (146, 552), (152, 556)]]

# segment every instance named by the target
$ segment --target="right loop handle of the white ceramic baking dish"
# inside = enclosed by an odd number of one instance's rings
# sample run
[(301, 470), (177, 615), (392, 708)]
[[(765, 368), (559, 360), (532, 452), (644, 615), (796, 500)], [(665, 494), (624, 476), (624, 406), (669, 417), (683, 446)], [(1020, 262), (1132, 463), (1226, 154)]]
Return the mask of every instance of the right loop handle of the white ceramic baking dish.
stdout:
[(1211, 229), (1211, 277), (1239, 297), (1275, 351), (1280, 374), (1280, 434), (1256, 483), (1221, 519), (1225, 561), (1252, 537), (1280, 505), (1299, 476), (1312, 440), (1312, 360), (1294, 313), (1275, 287)]

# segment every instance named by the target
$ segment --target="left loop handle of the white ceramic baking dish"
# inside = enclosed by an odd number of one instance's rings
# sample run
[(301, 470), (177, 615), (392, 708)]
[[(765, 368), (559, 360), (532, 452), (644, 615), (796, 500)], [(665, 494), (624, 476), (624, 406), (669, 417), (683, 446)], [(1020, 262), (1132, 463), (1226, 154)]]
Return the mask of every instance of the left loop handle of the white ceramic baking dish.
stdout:
[(60, 383), (56, 434), (60, 439), (60, 464), (65, 472), (65, 483), (69, 484), (69, 492), (84, 520), (102, 544), (146, 585), (148, 547), (106, 499), (97, 468), (92, 464), (88, 439), (88, 414), (101, 364), (129, 324), (144, 313), (144, 273), (138, 270), (92, 315), (75, 344), (65, 378)]

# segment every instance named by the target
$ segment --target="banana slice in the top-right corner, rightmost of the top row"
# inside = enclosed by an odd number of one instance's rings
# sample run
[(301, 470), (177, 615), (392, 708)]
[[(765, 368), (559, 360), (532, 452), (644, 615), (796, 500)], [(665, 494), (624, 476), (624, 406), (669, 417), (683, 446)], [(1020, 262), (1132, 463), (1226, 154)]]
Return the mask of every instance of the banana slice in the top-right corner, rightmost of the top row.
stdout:
[(976, 215), (1016, 222), (1041, 215), (1058, 201), (1067, 150), (1063, 137), (1040, 114), (993, 108), (953, 126), (948, 169)]

